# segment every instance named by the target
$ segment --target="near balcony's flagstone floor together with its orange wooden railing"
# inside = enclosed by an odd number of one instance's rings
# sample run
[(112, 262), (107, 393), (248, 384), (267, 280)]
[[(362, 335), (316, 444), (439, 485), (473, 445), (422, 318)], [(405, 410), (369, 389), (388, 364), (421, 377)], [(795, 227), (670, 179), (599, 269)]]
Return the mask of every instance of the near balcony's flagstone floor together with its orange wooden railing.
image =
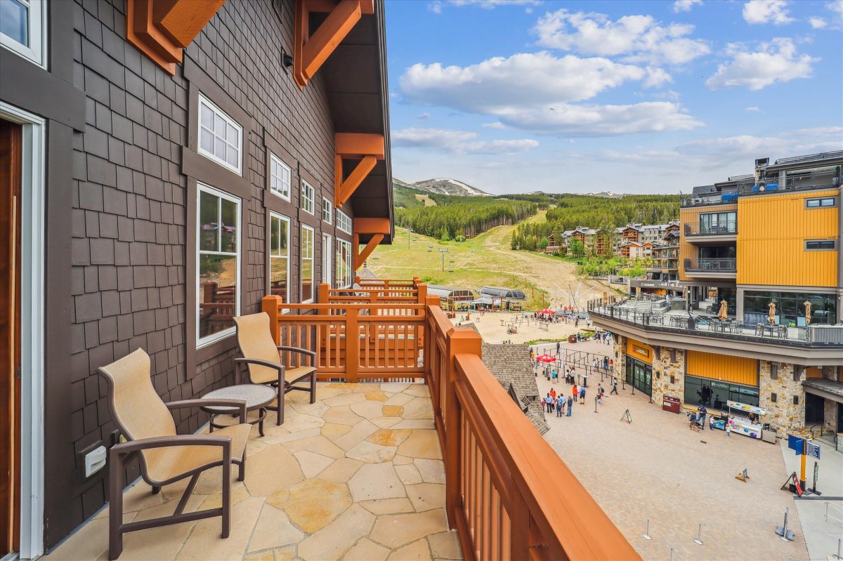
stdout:
[[(130, 532), (121, 558), (639, 558), (427, 286), (358, 278), (319, 302), (263, 299), (277, 344), (316, 350), (319, 382), (315, 403), (288, 393), (282, 425), (269, 412), (252, 430), (230, 536), (218, 518)], [(185, 511), (220, 504), (219, 469)], [(183, 489), (137, 482), (126, 519), (169, 514)], [(103, 511), (46, 559), (107, 548)]]

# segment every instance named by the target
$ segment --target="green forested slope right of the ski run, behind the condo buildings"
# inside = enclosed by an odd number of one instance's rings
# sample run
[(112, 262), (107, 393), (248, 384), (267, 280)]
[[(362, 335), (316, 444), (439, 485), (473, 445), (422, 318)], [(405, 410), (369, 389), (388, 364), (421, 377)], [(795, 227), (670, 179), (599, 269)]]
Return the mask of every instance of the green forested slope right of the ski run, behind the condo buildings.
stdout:
[(542, 238), (578, 226), (610, 230), (629, 222), (663, 224), (679, 217), (679, 195), (625, 195), (622, 199), (569, 194), (507, 196), (526, 196), (540, 205), (555, 205), (547, 211), (545, 222), (520, 224), (513, 232), (513, 247), (521, 248), (534, 248)]

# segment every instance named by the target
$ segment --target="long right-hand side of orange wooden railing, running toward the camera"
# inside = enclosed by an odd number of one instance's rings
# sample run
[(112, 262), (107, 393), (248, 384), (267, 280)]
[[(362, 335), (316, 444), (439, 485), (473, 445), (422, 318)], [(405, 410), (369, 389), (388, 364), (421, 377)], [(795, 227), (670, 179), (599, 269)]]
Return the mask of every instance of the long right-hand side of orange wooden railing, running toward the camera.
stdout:
[[(433, 302), (433, 301), (436, 302)], [(425, 371), (466, 559), (640, 559), (481, 360), (473, 329), (428, 301)]]

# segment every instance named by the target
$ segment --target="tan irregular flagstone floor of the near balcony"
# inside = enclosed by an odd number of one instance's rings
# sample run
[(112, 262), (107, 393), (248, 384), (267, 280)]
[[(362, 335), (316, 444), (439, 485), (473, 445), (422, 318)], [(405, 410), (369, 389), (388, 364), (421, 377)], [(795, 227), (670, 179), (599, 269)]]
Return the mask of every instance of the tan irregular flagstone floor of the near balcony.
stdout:
[[(255, 559), (398, 561), (460, 559), (445, 520), (445, 472), (428, 387), (406, 383), (319, 383), (287, 394), (286, 420), (269, 412), (253, 428), (244, 482), (232, 470), (231, 535), (220, 519), (131, 532), (121, 561)], [(220, 505), (221, 468), (204, 473), (186, 511)], [(184, 482), (152, 494), (127, 489), (124, 520), (171, 514)], [(46, 556), (108, 558), (108, 509)]]

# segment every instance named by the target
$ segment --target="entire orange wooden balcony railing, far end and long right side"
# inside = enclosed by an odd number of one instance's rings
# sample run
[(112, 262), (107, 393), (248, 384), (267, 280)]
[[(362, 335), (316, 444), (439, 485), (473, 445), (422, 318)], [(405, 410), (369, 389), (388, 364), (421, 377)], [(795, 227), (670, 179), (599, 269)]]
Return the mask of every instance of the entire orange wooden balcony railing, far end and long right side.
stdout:
[(317, 350), (319, 379), (427, 382), (465, 559), (640, 559), (483, 364), (479, 334), (455, 328), (418, 279), (358, 286), (263, 309), (278, 345)]

